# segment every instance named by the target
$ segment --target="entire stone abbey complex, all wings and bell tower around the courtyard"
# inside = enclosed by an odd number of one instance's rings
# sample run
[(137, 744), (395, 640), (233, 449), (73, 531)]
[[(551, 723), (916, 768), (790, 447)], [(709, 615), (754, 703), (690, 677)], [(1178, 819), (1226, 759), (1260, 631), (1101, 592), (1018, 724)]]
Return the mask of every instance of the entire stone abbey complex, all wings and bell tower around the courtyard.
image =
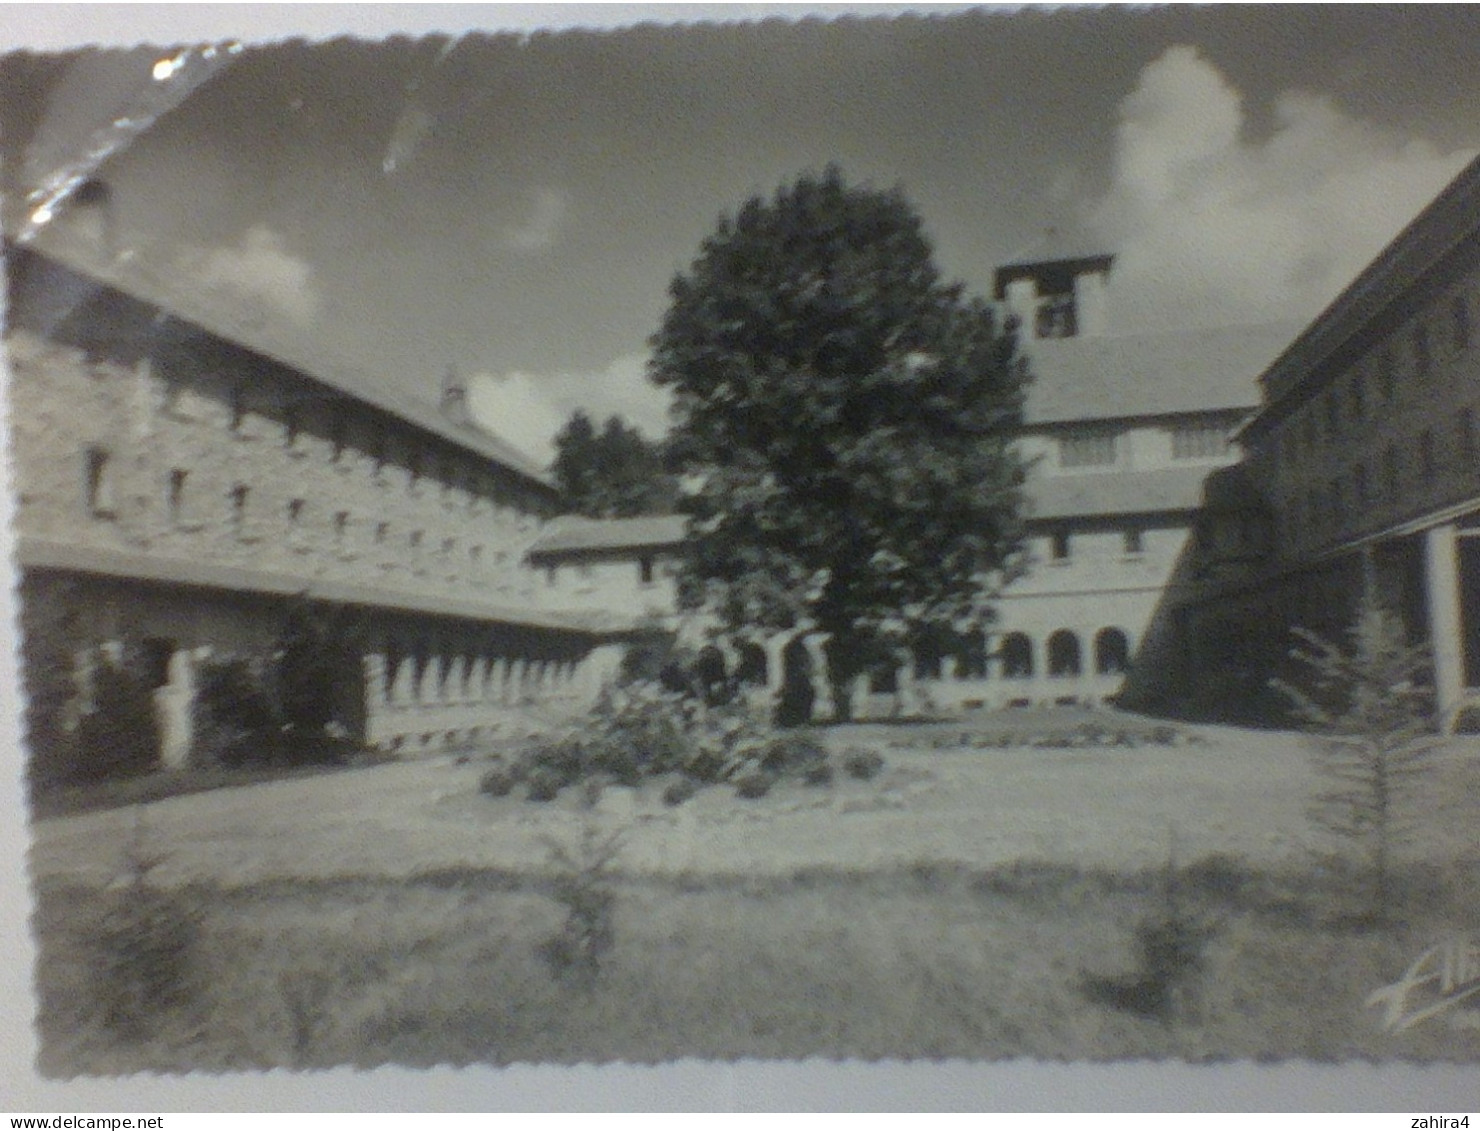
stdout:
[[(1111, 256), (1000, 268), (1033, 375), (1029, 568), (953, 644), (857, 687), (855, 714), (1233, 702), (1291, 628), (1339, 634), (1375, 583), (1430, 642), (1452, 724), (1480, 697), (1477, 218), (1480, 163), (1298, 335), (1116, 335)], [(454, 382), (370, 388), (80, 219), (6, 249), (33, 716), (75, 727), (127, 663), (158, 761), (185, 764), (203, 668), (271, 656), (314, 608), (345, 642), (337, 728), (437, 749), (588, 703), (672, 614), (681, 520), (559, 517)], [(773, 693), (805, 663), (826, 715), (820, 644), (727, 659)]]

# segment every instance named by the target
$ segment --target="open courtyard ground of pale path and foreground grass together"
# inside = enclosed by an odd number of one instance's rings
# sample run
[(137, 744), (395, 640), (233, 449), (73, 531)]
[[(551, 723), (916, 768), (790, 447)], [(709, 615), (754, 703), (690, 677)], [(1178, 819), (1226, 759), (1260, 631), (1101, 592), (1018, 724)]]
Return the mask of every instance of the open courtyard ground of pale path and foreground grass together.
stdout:
[[(1436, 940), (1480, 936), (1474, 740), (1436, 765), (1403, 906), (1373, 927), (1305, 819), (1302, 739), (1035, 724), (1049, 745), (1000, 746), (992, 725), (833, 728), (884, 773), (753, 801), (493, 799), (485, 764), (437, 758), (40, 820), (43, 1069), (1480, 1056), (1480, 1027), (1388, 1033), (1365, 1007)], [(570, 906), (552, 844), (588, 829), (620, 844), (589, 981), (549, 949)], [(200, 937), (184, 1001), (120, 1032), (96, 940), (136, 836), (161, 913)], [(1175, 1008), (1089, 990), (1143, 976), (1137, 930), (1168, 915), (1206, 930)]]

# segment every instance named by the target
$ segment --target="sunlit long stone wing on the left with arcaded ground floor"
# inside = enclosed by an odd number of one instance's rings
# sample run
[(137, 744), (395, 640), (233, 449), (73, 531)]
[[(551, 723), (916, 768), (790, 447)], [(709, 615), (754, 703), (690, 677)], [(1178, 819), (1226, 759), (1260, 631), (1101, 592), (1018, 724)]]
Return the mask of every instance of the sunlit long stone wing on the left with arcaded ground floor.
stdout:
[[(53, 243), (7, 249), (6, 330), (28, 691), (52, 725), (89, 711), (99, 665), (127, 663), (160, 761), (184, 764), (201, 665), (269, 656), (303, 607), (346, 641), (333, 721), (382, 749), (593, 691), (629, 622), (545, 608), (524, 555), (558, 493), (469, 423), (460, 389), (391, 401)], [(46, 648), (64, 691), (37, 684)]]

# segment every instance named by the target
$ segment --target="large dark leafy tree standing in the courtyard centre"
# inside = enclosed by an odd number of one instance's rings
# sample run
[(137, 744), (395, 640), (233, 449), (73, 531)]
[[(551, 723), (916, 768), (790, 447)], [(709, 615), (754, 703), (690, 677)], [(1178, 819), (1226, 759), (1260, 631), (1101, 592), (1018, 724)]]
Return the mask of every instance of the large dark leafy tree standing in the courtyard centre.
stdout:
[(1026, 367), (901, 192), (836, 167), (753, 197), (669, 287), (651, 379), (690, 487), (687, 597), (830, 634), (839, 690), (1018, 557)]

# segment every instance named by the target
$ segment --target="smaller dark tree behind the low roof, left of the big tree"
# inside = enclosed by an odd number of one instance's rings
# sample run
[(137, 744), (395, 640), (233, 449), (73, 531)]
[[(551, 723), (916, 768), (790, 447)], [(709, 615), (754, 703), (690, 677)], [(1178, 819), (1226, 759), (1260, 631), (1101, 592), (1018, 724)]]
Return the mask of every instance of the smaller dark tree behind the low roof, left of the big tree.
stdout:
[(620, 416), (596, 431), (576, 410), (555, 437), (552, 471), (567, 505), (588, 518), (672, 514), (676, 487), (663, 469), (663, 446)]

